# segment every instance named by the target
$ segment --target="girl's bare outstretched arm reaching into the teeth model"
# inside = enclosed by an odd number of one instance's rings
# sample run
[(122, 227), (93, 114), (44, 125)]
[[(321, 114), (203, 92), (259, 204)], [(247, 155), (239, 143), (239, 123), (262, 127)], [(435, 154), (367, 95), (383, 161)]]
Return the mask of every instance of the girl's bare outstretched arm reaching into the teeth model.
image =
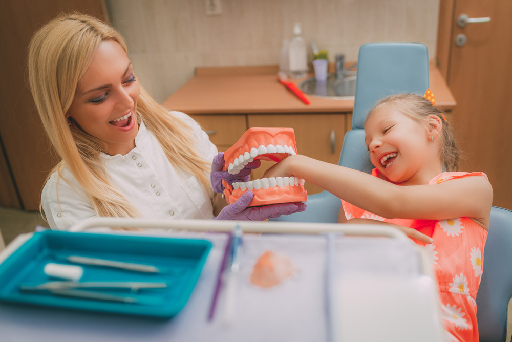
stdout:
[(382, 217), (442, 220), (467, 216), (488, 229), (493, 189), (485, 177), (465, 177), (436, 185), (400, 186), (302, 155), (289, 156), (264, 174), (264, 177), (279, 176), (304, 178)]

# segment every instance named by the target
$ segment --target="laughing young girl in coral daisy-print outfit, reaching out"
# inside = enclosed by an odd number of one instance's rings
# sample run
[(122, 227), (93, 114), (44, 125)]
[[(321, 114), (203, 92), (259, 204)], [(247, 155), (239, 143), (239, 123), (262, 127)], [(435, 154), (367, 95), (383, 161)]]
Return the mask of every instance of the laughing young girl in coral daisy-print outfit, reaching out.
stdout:
[(342, 199), (339, 222), (390, 223), (430, 237), (415, 241), (430, 255), (449, 340), (478, 341), (475, 298), (493, 200), (487, 177), (455, 172), (449, 124), (418, 95), (379, 101), (365, 133), (372, 175), (296, 155), (264, 177), (295, 176), (327, 189)]

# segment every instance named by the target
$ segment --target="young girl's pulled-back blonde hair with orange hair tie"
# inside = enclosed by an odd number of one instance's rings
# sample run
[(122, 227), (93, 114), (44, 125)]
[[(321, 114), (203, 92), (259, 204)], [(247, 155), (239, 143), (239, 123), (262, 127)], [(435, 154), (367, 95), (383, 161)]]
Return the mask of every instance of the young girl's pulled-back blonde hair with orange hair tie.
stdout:
[(396, 94), (385, 97), (377, 102), (377, 104), (370, 110), (365, 123), (372, 115), (384, 106), (391, 105), (400, 113), (405, 114), (418, 123), (427, 125), (430, 115), (436, 115), (441, 118), (442, 129), (438, 136), (441, 139), (441, 150), (439, 158), (446, 172), (454, 172), (459, 165), (460, 151), (457, 147), (454, 134), (445, 119), (444, 114), (432, 103), (422, 96), (416, 94)]

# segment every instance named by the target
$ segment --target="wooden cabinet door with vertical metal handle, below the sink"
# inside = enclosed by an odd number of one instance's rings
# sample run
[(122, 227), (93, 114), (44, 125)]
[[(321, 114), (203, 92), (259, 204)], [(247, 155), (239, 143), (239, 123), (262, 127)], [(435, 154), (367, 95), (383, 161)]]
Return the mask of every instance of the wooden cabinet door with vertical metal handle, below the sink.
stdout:
[[(346, 113), (340, 114), (250, 114), (249, 127), (292, 127), (299, 154), (337, 164), (342, 151), (343, 138), (347, 132)], [(273, 163), (264, 161), (252, 172), (251, 177), (263, 177), (265, 170)], [(306, 182), (308, 194), (323, 189)]]

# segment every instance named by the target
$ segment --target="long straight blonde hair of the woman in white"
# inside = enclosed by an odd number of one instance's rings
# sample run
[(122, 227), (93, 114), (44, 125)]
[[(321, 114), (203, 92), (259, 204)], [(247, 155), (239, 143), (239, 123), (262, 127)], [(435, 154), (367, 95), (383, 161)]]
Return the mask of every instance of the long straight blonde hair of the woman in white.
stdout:
[[(121, 35), (101, 20), (76, 12), (57, 16), (30, 41), (29, 86), (45, 131), (61, 159), (50, 175), (57, 172), (62, 177), (63, 167), (69, 168), (98, 216), (136, 217), (138, 210), (109, 181), (99, 158), (103, 142), (75, 126), (70, 127), (65, 117), (78, 81), (104, 40), (118, 42), (127, 52)], [(155, 135), (169, 162), (196, 176), (211, 198), (207, 176), (210, 163), (201, 157), (200, 151), (190, 148), (196, 145), (190, 127), (170, 115), (142, 87), (137, 116)]]

